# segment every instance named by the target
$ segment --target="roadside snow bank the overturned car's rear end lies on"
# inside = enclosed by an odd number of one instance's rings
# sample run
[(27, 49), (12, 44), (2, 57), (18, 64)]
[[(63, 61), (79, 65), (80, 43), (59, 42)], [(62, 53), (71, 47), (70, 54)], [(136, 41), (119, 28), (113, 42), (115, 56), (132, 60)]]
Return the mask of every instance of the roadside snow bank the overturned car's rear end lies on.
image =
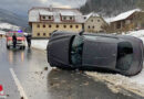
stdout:
[[(144, 30), (132, 31), (126, 35), (138, 37), (144, 42)], [(95, 80), (106, 81), (107, 87), (111, 85), (109, 88), (115, 92), (120, 92), (121, 89), (126, 89), (144, 97), (144, 69), (138, 75), (133, 77), (126, 77), (119, 74), (102, 74), (96, 72), (86, 72), (86, 74)]]

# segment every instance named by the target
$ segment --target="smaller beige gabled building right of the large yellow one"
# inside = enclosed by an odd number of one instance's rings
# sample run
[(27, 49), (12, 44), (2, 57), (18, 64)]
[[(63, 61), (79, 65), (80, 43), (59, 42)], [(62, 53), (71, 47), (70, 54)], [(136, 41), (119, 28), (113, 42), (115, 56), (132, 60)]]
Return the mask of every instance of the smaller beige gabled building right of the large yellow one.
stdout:
[(103, 28), (104, 25), (107, 25), (107, 23), (99, 14), (92, 12), (88, 15), (84, 15), (84, 21), (85, 32), (105, 32)]

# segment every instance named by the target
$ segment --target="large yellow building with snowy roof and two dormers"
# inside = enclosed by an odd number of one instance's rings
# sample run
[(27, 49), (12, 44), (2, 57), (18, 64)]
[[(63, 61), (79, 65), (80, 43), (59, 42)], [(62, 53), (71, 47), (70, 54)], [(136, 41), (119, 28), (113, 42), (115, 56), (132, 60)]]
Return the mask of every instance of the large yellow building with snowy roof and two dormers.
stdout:
[(32, 37), (50, 37), (53, 31), (80, 32), (84, 19), (78, 9), (32, 8), (29, 10), (29, 24)]

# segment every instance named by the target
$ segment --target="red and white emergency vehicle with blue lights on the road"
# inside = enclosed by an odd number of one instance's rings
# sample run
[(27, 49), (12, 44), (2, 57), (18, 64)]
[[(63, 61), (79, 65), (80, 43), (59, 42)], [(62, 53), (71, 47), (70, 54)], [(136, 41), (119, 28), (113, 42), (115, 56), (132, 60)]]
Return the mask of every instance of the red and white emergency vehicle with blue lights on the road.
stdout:
[(13, 46), (13, 42), (12, 42), (12, 35), (16, 34), (17, 35), (17, 46), (24, 50), (25, 48), (25, 37), (24, 34), (22, 32), (17, 32), (17, 31), (12, 31), (12, 32), (8, 32), (7, 33), (7, 48), (10, 48), (11, 46)]

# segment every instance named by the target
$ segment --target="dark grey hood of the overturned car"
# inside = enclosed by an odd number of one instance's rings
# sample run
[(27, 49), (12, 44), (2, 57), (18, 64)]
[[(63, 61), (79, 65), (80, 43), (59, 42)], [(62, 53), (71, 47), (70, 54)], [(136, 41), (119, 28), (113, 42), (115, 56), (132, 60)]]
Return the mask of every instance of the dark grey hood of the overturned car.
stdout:
[(49, 42), (49, 53), (48, 53), (48, 62), (52, 66), (60, 66), (70, 64), (69, 61), (69, 48), (72, 35), (64, 35), (61, 37), (54, 37)]

